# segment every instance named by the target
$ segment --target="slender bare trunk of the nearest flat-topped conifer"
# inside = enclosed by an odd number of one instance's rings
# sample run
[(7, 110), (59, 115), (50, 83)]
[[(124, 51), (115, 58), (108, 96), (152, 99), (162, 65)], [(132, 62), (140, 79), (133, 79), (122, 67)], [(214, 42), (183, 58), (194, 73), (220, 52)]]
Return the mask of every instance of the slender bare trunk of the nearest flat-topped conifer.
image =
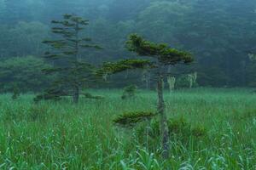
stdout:
[(167, 124), (167, 116), (165, 111), (165, 101), (163, 95), (163, 75), (159, 71), (157, 81), (157, 94), (158, 94), (158, 113), (160, 115), (160, 132), (162, 138), (162, 156), (164, 159), (169, 157), (169, 129)]

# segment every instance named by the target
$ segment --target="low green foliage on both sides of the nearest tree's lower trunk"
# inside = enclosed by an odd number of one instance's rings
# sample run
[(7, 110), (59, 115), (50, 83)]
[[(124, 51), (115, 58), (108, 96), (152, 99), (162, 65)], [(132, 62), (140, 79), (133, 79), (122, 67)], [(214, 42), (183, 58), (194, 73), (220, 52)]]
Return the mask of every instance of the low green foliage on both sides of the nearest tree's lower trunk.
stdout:
[[(160, 144), (160, 122), (155, 113), (146, 111), (128, 112), (113, 119), (117, 127), (130, 129), (125, 134), (134, 135), (137, 144), (146, 145), (148, 150), (155, 150)], [(131, 131), (133, 129), (133, 131)], [(169, 135), (173, 141), (189, 144), (189, 139), (207, 137), (207, 129), (201, 126), (192, 127), (183, 117), (168, 120)], [(120, 131), (119, 131), (120, 132)]]

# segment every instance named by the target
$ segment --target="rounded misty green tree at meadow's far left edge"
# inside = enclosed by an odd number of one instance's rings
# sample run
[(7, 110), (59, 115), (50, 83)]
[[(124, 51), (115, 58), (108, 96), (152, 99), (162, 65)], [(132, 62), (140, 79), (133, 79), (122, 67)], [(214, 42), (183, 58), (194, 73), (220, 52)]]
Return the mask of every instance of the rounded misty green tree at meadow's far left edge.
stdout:
[(0, 91), (14, 94), (15, 91), (41, 91), (49, 82), (49, 77), (41, 71), (44, 67), (49, 65), (43, 59), (32, 56), (4, 59), (0, 63)]

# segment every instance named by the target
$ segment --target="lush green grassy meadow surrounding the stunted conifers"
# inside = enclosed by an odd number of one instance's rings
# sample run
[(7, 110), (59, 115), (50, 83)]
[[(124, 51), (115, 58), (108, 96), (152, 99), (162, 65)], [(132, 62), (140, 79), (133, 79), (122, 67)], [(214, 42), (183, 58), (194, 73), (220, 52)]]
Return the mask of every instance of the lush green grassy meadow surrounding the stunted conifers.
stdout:
[[(166, 112), (201, 137), (171, 137), (171, 157), (150, 149), (137, 131), (113, 126), (129, 111), (156, 111), (154, 91), (120, 99), (121, 90), (90, 90), (105, 99), (33, 104), (32, 94), (0, 96), (0, 169), (256, 169), (256, 94), (251, 89), (198, 88), (165, 93)], [(157, 137), (156, 137), (157, 138)], [(185, 140), (184, 140), (185, 139)], [(152, 141), (152, 140), (151, 140)]]

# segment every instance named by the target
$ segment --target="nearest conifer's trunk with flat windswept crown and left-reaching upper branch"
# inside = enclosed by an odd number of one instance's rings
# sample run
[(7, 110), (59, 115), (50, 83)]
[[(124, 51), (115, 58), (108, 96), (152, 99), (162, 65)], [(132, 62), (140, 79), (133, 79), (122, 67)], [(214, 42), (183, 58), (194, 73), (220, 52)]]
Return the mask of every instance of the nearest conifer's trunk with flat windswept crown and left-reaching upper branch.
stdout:
[(162, 138), (163, 157), (169, 157), (169, 132), (167, 116), (165, 112), (165, 102), (163, 97), (163, 80), (166, 76), (166, 65), (177, 65), (178, 63), (189, 64), (193, 61), (191, 54), (169, 48), (164, 43), (149, 42), (137, 34), (132, 34), (126, 42), (126, 48), (140, 56), (150, 57), (151, 59), (125, 59), (116, 63), (103, 65), (103, 70), (111, 73), (125, 71), (135, 68), (151, 68), (157, 72), (157, 94), (158, 109), (160, 115), (160, 132)]

